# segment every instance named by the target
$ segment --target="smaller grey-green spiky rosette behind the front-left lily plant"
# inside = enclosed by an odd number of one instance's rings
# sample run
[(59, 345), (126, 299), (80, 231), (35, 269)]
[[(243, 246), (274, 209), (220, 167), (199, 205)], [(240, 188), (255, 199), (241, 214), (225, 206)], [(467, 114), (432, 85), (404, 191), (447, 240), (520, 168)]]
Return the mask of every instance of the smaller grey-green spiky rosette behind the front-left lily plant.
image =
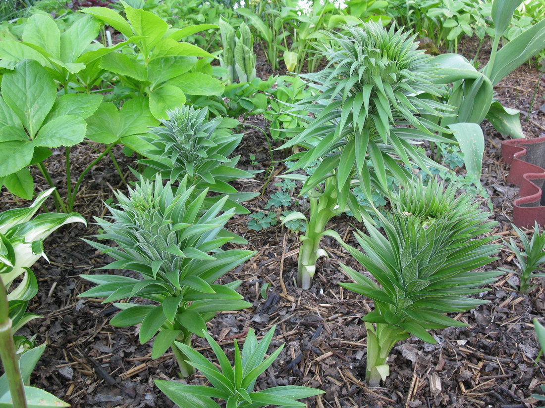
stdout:
[[(209, 189), (215, 193), (229, 194), (228, 206), (238, 213), (248, 211), (239, 204), (258, 193), (239, 193), (229, 182), (250, 178), (258, 171), (237, 168), (240, 156), (228, 158), (237, 148), (242, 134), (232, 134), (228, 127), (238, 121), (216, 117), (208, 119), (208, 110), (181, 106), (169, 111), (163, 126), (150, 128), (150, 134), (142, 137), (154, 149), (144, 152), (149, 157), (140, 163), (155, 169), (162, 178), (181, 180), (196, 187), (196, 191)], [(207, 197), (206, 203), (215, 202), (219, 196)]]

